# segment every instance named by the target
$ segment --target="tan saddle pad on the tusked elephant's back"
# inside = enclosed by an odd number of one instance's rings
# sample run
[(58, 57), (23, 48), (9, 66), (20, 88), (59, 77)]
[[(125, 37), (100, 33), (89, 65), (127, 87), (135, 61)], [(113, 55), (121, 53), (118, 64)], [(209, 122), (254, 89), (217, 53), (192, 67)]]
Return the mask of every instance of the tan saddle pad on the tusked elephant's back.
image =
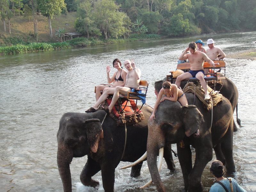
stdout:
[(189, 82), (185, 85), (183, 92), (184, 93), (195, 93), (195, 95), (198, 97), (199, 100), (201, 100), (204, 103), (204, 106), (207, 108), (207, 110), (210, 110), (212, 107), (217, 105), (222, 100), (222, 94), (213, 92), (211, 87), (208, 87), (209, 95), (211, 96), (211, 100), (204, 100), (204, 89), (202, 88), (200, 82)]

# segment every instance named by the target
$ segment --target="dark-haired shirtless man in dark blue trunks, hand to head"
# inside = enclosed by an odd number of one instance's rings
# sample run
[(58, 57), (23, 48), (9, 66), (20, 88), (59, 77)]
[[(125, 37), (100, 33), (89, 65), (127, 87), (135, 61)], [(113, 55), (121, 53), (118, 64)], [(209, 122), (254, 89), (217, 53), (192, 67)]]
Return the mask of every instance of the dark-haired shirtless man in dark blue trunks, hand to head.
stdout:
[(209, 100), (210, 96), (208, 95), (207, 85), (204, 80), (204, 60), (207, 61), (213, 67), (215, 67), (216, 65), (219, 65), (219, 63), (214, 63), (212, 60), (210, 60), (209, 57), (207, 57), (207, 55), (204, 52), (196, 51), (195, 42), (191, 42), (188, 45), (188, 48), (186, 49), (186, 51), (190, 51), (190, 53), (188, 54), (185, 54), (186, 52), (181, 53), (179, 60), (189, 59), (190, 71), (178, 76), (175, 84), (177, 85), (177, 87), (180, 87), (180, 82), (182, 80), (191, 78), (191, 77), (196, 77), (197, 79), (199, 79), (204, 89), (204, 92), (205, 92), (204, 100)]

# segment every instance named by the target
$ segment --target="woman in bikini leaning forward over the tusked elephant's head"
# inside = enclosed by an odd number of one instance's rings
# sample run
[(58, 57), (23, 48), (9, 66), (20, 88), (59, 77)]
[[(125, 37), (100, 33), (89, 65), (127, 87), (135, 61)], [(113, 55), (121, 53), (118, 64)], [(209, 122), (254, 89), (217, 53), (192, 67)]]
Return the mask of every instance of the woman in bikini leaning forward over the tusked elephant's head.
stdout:
[[(161, 99), (163, 95), (165, 95), (165, 97)], [(177, 85), (171, 84), (169, 81), (166, 81), (163, 83), (163, 88), (159, 91), (159, 94), (157, 95), (154, 110), (152, 112), (152, 115), (149, 117), (150, 121), (155, 119), (156, 109), (159, 103), (163, 102), (164, 100), (170, 100), (174, 102), (179, 101), (182, 106), (188, 105), (188, 100), (183, 91), (181, 89), (178, 89)]]

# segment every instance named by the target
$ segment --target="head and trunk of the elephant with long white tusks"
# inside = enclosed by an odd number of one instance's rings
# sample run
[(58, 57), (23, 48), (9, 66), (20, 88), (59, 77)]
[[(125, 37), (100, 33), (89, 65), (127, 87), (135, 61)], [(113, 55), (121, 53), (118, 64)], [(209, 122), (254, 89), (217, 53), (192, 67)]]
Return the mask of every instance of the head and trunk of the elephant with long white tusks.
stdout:
[(155, 116), (153, 121), (148, 121), (148, 168), (157, 190), (164, 191), (156, 164), (158, 151), (168, 143), (178, 143), (191, 136), (204, 124), (204, 118), (196, 106), (181, 107), (179, 102), (172, 101), (160, 103)]

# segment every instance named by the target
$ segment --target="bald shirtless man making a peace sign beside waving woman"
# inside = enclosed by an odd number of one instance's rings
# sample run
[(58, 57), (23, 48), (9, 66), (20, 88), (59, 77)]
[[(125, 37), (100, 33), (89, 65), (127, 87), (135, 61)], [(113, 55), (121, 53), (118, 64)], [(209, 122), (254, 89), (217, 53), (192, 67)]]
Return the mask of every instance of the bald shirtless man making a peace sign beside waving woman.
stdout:
[[(126, 74), (126, 80), (125, 80), (125, 85), (124, 87), (116, 86), (112, 101), (110, 105), (108, 106), (109, 112), (111, 112), (112, 108), (115, 106), (116, 101), (118, 100), (119, 94), (122, 95), (127, 95), (128, 92), (131, 92), (132, 88), (138, 89), (140, 85), (140, 69), (135, 68), (135, 63), (132, 59), (130, 60), (125, 60), (124, 61), (124, 67), (128, 70)], [(108, 89), (100, 96), (99, 100), (93, 105), (91, 108), (86, 110), (85, 112), (93, 112), (95, 111), (102, 102), (104, 102), (107, 98), (108, 95), (111, 94), (108, 92)], [(113, 94), (113, 93), (112, 93)], [(102, 107), (104, 110), (108, 111), (106, 106)]]

